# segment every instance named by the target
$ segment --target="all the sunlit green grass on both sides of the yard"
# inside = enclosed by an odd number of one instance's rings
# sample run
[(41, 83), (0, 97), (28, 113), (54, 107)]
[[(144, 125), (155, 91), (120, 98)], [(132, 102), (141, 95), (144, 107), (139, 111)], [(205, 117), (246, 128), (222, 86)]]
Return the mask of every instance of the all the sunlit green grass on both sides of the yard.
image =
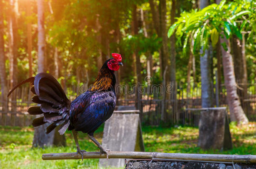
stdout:
[[(256, 154), (256, 123), (236, 126), (230, 124), (233, 149), (228, 151), (203, 150), (197, 147), (198, 128), (182, 127), (162, 128), (144, 126), (142, 128), (146, 151), (168, 153), (201, 154)], [(44, 153), (75, 152), (76, 145), (70, 131), (65, 134), (66, 147), (32, 148), (33, 127), (0, 126), (0, 168), (1, 169), (97, 169), (98, 159), (51, 160), (43, 161)], [(101, 141), (103, 126), (95, 137)], [(98, 151), (86, 134), (79, 133), (79, 143), (86, 151)]]

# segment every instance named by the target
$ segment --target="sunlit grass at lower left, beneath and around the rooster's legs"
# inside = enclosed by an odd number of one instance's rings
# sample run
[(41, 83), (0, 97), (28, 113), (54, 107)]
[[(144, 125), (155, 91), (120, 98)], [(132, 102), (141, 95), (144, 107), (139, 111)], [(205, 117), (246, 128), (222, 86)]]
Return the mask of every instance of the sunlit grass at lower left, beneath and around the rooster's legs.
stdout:
[[(95, 136), (99, 141), (102, 138), (103, 127), (100, 127)], [(65, 134), (66, 147), (47, 147), (45, 149), (32, 148), (33, 127), (1, 126), (0, 129), (0, 159), (1, 169), (96, 169), (98, 159), (55, 160), (43, 161), (44, 153), (75, 152), (76, 144), (70, 131)], [(86, 151), (98, 151), (97, 147), (88, 139), (87, 134), (79, 133), (79, 144)]]

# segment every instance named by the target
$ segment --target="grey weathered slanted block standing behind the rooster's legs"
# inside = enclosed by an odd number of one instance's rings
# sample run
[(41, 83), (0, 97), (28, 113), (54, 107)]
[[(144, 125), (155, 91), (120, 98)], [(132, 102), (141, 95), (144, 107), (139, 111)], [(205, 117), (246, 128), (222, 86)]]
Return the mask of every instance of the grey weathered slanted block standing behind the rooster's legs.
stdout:
[[(144, 151), (139, 110), (114, 111), (105, 122), (102, 146), (111, 151)], [(125, 166), (123, 159), (100, 159), (99, 166)]]

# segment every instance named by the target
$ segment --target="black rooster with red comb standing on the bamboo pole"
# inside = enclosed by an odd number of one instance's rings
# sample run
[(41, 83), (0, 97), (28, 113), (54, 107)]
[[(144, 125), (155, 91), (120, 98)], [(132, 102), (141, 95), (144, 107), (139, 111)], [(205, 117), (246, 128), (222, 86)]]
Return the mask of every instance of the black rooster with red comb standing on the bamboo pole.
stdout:
[(55, 127), (60, 126), (58, 132), (62, 135), (65, 131), (71, 130), (76, 142), (76, 152), (81, 154), (84, 159), (83, 152), (78, 144), (77, 132), (87, 133), (91, 141), (99, 148), (100, 153), (107, 154), (101, 144), (94, 138), (96, 131), (101, 124), (112, 116), (115, 109), (115, 74), (120, 66), (123, 66), (122, 57), (118, 53), (112, 53), (113, 58), (108, 59), (100, 69), (94, 84), (84, 93), (79, 95), (72, 102), (67, 98), (60, 83), (48, 73), (39, 73), (37, 76), (28, 78), (9, 93), (12, 93), (18, 86), (30, 82), (33, 87), (31, 92), (36, 96), (32, 98), (34, 103), (41, 104), (28, 109), (29, 114), (44, 116), (34, 119), (32, 125), (34, 127), (51, 123), (46, 134), (49, 134)]

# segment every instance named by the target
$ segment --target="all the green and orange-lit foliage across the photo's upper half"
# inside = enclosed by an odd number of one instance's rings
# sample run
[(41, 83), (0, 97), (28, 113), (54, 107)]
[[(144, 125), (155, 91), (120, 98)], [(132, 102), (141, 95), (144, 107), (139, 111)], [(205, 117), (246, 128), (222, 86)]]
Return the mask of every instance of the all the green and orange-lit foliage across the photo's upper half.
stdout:
[[(156, 5), (159, 5), (159, 1)], [(247, 31), (246, 58), (248, 65), (248, 80), (255, 81), (256, 55), (256, 10), (253, 0), (222, 1), (220, 5), (212, 4), (203, 10), (193, 10), (194, 0), (177, 1), (176, 22), (170, 25), (172, 1), (167, 1), (168, 36), (175, 33), (175, 57), (177, 81), (186, 82), (189, 50), (196, 57), (196, 82), (200, 81), (199, 49), (208, 47), (209, 40), (214, 46), (218, 37), (236, 35), (241, 38), (241, 31)], [(213, 3), (213, 0), (210, 1)], [(59, 77), (68, 90), (69, 96), (78, 83), (89, 80), (93, 83), (99, 70), (97, 62), (100, 53), (106, 60), (110, 53), (120, 53), (123, 56), (124, 67), (120, 69), (120, 83), (133, 85), (136, 81), (134, 72), (134, 52), (141, 58), (142, 79), (146, 76), (146, 59), (153, 54), (154, 84), (161, 84), (161, 69), (159, 48), (162, 39), (154, 29), (154, 21), (149, 2), (146, 0), (51, 0), (44, 2), (45, 40), (47, 72), (54, 74), (54, 53), (58, 50)], [(8, 18), (10, 7), (3, 0), (4, 8), (4, 41), (5, 55), (9, 52)], [(133, 5), (137, 6), (138, 35), (131, 35)], [(50, 8), (52, 11), (50, 11)], [(18, 2), (18, 81), (28, 78), (29, 61), (27, 53), (27, 23), (32, 23), (32, 68), (37, 74), (37, 3), (31, 3), (31, 16), (26, 15), (27, 3)], [(144, 12), (147, 38), (144, 36), (140, 9)], [(170, 41), (168, 41), (170, 50)], [(225, 44), (223, 44), (225, 45)], [(6, 57), (6, 73), (9, 76), (9, 57)], [(169, 63), (168, 63), (169, 64)], [(64, 80), (65, 79), (65, 80)], [(144, 83), (144, 82), (143, 82)], [(8, 83), (9, 84), (9, 83)], [(71, 89), (72, 88), (72, 89)]]

